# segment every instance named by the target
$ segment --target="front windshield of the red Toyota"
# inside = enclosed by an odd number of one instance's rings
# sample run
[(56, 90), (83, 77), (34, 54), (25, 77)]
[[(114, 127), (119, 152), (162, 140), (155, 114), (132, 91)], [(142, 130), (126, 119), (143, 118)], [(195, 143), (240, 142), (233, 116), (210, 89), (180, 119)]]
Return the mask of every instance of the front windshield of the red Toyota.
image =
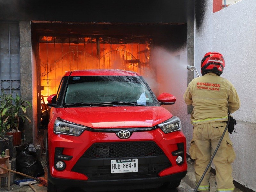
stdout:
[[(88, 105), (98, 103), (98, 105)], [(155, 106), (140, 76), (70, 76), (64, 106)], [(108, 104), (108, 105), (99, 105)]]

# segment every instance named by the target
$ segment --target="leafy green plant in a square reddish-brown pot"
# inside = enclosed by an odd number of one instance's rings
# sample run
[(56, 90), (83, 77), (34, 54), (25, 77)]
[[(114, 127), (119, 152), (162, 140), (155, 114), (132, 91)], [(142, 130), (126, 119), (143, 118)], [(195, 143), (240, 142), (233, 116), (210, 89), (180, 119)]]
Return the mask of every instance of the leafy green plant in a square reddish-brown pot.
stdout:
[(27, 108), (31, 109), (31, 104), (28, 101), (23, 101), (21, 97), (16, 94), (15, 98), (11, 98), (12, 102), (6, 104), (4, 116), (7, 120), (7, 135), (13, 135), (13, 146), (21, 144), (21, 132), (19, 125), (24, 122), (25, 119), (31, 122), (28, 116), (25, 115)]

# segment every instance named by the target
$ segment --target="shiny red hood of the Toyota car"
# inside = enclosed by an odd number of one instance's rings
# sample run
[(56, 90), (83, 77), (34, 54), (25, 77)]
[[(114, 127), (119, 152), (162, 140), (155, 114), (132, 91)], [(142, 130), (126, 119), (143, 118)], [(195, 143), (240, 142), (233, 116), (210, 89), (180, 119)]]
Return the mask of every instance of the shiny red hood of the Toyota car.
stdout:
[(56, 108), (56, 116), (91, 128), (153, 127), (173, 115), (163, 107)]

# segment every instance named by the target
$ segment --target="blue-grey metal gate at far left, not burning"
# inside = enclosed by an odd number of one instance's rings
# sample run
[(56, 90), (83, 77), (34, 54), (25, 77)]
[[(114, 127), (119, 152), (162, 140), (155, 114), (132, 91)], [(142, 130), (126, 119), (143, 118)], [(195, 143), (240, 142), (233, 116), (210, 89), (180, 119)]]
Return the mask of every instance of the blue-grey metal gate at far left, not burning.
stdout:
[(19, 24), (0, 22), (1, 91), (20, 95)]

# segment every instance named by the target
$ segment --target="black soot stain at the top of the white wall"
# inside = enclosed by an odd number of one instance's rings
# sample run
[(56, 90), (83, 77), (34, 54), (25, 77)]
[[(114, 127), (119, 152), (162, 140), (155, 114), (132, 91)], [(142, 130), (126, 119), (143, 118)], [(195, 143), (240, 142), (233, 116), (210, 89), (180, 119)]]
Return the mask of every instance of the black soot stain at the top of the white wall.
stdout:
[(200, 31), (201, 28), (203, 27), (206, 6), (207, 6), (207, 1), (195, 0), (195, 21), (196, 21), (196, 30), (198, 31)]

